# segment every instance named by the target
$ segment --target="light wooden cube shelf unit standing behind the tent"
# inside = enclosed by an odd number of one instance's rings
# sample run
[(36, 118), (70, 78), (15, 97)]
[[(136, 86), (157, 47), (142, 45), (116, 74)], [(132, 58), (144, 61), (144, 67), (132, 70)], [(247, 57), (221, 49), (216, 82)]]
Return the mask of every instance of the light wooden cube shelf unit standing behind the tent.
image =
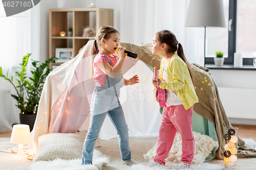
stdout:
[[(101, 26), (113, 26), (113, 9), (104, 8), (63, 8), (49, 10), (49, 58), (55, 57), (56, 48), (73, 48), (74, 57), (81, 47), (93, 37), (83, 37), (83, 29), (93, 27), (98, 31)], [(68, 35), (69, 28), (73, 28), (72, 36), (59, 36), (61, 31)], [(50, 63), (61, 65), (62, 63)]]

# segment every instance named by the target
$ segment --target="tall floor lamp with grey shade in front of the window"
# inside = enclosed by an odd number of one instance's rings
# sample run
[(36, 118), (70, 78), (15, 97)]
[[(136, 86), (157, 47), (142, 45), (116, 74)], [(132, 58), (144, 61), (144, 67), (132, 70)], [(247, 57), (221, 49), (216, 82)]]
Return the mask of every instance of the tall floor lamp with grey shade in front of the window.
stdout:
[(204, 27), (204, 66), (206, 27), (226, 27), (223, 0), (190, 0), (185, 27)]

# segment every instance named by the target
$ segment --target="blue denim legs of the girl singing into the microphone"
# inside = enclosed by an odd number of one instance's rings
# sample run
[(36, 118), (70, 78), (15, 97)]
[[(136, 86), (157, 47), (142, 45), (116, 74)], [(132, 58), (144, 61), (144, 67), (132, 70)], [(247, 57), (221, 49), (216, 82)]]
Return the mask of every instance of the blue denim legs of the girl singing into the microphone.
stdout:
[(108, 112), (93, 115), (90, 117), (90, 127), (83, 145), (82, 164), (92, 164), (94, 146), (96, 143), (96, 139), (99, 136), (99, 132), (106, 117), (106, 114), (109, 115), (111, 122), (113, 123), (117, 134), (119, 135), (118, 142), (121, 151), (121, 159), (131, 159), (128, 128), (125, 122), (123, 109), (121, 106), (118, 106)]

